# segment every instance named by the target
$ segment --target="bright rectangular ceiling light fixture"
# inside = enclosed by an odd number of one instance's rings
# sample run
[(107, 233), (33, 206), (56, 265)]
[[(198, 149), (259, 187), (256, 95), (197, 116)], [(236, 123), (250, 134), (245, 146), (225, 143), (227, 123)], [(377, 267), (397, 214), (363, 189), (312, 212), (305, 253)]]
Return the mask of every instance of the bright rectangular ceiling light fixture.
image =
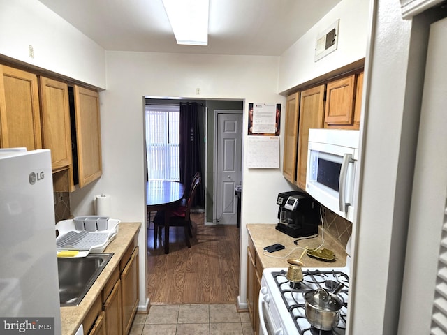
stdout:
[(177, 44), (208, 45), (209, 0), (162, 0)]

